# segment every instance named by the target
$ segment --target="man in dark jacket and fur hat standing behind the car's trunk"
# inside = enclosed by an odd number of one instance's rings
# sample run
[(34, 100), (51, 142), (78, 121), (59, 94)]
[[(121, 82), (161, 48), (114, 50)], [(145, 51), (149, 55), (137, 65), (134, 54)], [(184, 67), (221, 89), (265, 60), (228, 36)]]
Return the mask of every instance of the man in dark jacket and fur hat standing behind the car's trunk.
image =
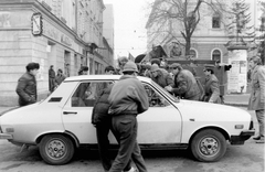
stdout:
[(39, 63), (29, 63), (25, 66), (26, 73), (19, 78), (15, 92), (19, 95), (20, 106), (26, 106), (36, 101), (35, 75), (38, 74), (39, 68)]

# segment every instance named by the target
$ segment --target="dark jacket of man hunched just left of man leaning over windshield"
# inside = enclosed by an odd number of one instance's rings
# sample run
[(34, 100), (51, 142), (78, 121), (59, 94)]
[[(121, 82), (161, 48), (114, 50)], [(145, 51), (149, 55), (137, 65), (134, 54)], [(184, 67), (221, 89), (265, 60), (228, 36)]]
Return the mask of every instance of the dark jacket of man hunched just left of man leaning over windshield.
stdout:
[(163, 68), (159, 68), (158, 71), (158, 75), (157, 77), (153, 77), (151, 75), (151, 79), (157, 83), (158, 85), (160, 85), (162, 88), (165, 88), (166, 86), (173, 86), (173, 78), (171, 77), (171, 75)]

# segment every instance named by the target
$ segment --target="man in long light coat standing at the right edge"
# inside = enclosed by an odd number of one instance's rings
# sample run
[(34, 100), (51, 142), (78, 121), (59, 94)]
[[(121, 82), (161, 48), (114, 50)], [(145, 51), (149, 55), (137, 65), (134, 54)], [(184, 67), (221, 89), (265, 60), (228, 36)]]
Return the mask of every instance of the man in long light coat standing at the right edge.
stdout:
[(248, 101), (248, 110), (255, 110), (258, 121), (259, 133), (254, 137), (257, 143), (264, 143), (264, 109), (265, 109), (265, 67), (262, 66), (262, 60), (254, 56), (250, 60), (252, 68), (251, 76), (251, 97)]

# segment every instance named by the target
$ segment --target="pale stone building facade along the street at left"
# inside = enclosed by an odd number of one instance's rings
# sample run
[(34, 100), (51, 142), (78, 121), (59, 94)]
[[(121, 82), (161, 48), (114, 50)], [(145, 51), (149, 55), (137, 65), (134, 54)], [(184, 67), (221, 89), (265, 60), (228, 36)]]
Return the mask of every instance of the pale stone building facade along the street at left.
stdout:
[[(113, 65), (113, 50), (105, 49), (103, 36), (103, 0), (1, 0), (0, 7), (0, 106), (18, 105), (15, 87), (30, 62), (40, 64), (39, 100), (49, 94), (51, 65), (66, 76), (84, 65), (91, 74)], [(32, 18), (36, 13), (42, 25)], [(33, 35), (33, 28), (40, 34)]]

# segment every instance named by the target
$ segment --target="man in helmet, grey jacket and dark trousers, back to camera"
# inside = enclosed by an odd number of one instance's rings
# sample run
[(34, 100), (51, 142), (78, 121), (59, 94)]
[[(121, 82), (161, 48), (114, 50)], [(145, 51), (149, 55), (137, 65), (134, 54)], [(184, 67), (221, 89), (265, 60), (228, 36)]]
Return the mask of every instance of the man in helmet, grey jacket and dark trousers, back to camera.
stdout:
[(123, 171), (130, 158), (139, 172), (147, 172), (136, 139), (138, 130), (136, 116), (148, 109), (148, 96), (141, 82), (136, 78), (138, 68), (134, 62), (127, 62), (123, 73), (108, 97), (113, 132), (119, 142), (119, 150), (109, 172)]

